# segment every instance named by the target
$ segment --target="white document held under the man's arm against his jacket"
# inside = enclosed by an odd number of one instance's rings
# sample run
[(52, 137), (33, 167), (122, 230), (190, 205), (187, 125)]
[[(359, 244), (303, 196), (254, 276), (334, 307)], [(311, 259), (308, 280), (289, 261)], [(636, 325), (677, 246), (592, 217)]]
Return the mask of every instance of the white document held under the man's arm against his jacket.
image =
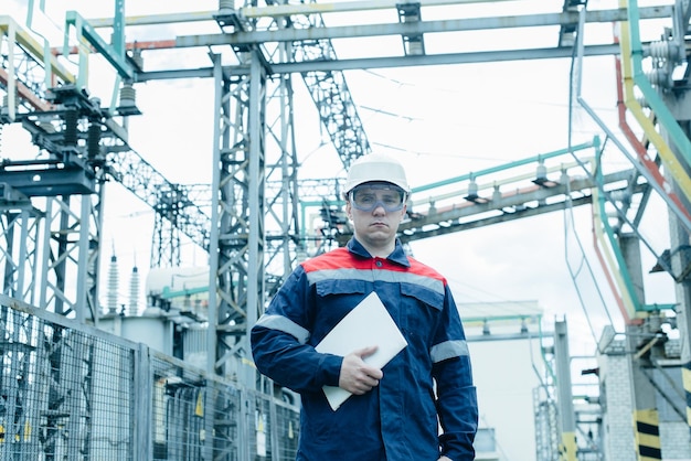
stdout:
[[(338, 322), (315, 349), (320, 353), (344, 357), (371, 345), (376, 345), (378, 350), (364, 357), (364, 362), (380, 369), (407, 346), (405, 337), (374, 291)], [(334, 386), (323, 386), (323, 393), (334, 411), (351, 396), (348, 390)]]

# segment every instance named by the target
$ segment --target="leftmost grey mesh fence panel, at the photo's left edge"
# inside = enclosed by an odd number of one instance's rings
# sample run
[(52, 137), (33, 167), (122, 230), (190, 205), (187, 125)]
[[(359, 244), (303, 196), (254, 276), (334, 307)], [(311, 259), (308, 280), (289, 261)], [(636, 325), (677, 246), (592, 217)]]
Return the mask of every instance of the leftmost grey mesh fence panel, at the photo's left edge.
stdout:
[(131, 460), (132, 351), (0, 305), (0, 459)]

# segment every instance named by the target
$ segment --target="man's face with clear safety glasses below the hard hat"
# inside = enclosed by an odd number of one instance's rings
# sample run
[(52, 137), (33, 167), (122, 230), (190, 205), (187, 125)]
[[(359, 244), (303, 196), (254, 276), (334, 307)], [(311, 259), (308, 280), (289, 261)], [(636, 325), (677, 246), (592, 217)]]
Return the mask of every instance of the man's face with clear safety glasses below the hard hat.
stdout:
[(360, 242), (384, 248), (394, 242), (405, 215), (405, 193), (385, 182), (364, 183), (350, 192), (347, 212)]

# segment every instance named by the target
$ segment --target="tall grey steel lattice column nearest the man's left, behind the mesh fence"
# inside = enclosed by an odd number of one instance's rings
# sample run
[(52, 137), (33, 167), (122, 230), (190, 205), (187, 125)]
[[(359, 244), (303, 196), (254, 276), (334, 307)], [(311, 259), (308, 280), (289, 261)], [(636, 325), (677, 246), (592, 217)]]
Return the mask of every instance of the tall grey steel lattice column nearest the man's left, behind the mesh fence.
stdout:
[[(208, 371), (256, 386), (247, 332), (264, 307), (265, 90), (258, 51), (240, 54), (249, 74), (230, 77), (213, 56), (215, 142), (210, 243), (210, 336)], [(211, 401), (209, 399), (208, 401)], [(214, 412), (208, 407), (210, 418)], [(212, 427), (213, 450), (236, 443), (232, 428)], [(209, 439), (208, 439), (209, 440)], [(206, 450), (212, 450), (211, 442)]]

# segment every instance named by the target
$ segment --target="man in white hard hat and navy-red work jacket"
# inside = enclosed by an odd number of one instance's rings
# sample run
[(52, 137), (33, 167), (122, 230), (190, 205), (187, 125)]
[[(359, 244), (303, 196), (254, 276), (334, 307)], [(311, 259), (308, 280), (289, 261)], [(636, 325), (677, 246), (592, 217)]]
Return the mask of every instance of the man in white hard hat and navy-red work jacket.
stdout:
[[(405, 171), (394, 159), (364, 156), (344, 189), (353, 238), (300, 264), (252, 329), (259, 372), (300, 394), (297, 460), (474, 460), (477, 398), (458, 310), (446, 279), (407, 257), (396, 237), (410, 193)], [(407, 346), (382, 369), (366, 364), (376, 344), (344, 357), (318, 353), (372, 291)], [(325, 385), (352, 396), (333, 410)]]

